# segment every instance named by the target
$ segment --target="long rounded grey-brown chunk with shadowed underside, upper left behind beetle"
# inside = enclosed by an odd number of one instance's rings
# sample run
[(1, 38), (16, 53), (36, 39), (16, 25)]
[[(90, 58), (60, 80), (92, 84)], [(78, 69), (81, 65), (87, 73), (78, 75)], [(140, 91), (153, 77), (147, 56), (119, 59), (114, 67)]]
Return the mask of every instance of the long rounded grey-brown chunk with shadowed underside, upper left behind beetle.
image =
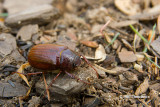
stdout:
[(59, 16), (59, 12), (51, 5), (45, 4), (30, 7), (19, 13), (9, 15), (5, 23), (10, 27), (20, 27), (27, 24), (46, 24)]

